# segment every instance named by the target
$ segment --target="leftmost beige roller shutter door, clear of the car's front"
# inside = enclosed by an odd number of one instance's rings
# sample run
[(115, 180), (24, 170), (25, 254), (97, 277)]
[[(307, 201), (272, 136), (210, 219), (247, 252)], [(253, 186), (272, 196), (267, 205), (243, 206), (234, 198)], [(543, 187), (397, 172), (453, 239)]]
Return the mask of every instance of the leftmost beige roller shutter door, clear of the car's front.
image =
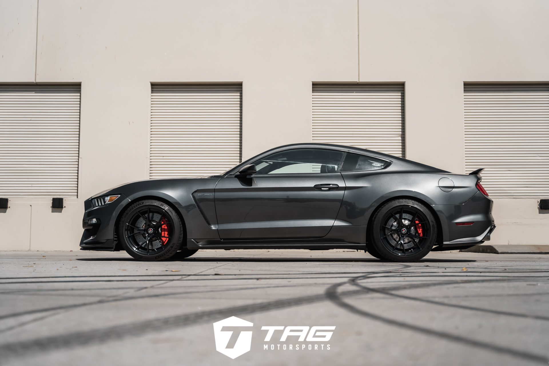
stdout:
[(0, 85), (0, 195), (76, 196), (80, 86)]

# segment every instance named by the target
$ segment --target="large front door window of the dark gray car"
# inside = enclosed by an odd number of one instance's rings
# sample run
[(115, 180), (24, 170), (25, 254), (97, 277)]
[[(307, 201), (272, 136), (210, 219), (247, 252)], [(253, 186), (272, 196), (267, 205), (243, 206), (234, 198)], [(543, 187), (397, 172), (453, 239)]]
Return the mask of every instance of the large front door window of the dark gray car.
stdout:
[(254, 162), (256, 174), (337, 173), (345, 153), (328, 149), (293, 149)]

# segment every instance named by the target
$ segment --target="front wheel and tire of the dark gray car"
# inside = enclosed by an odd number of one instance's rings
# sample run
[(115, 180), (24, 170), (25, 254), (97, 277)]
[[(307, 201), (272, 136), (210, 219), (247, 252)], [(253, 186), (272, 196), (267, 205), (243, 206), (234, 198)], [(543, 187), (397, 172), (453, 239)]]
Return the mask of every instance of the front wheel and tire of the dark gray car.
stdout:
[(139, 261), (161, 261), (180, 250), (183, 223), (164, 202), (138, 201), (128, 207), (119, 226), (122, 247)]

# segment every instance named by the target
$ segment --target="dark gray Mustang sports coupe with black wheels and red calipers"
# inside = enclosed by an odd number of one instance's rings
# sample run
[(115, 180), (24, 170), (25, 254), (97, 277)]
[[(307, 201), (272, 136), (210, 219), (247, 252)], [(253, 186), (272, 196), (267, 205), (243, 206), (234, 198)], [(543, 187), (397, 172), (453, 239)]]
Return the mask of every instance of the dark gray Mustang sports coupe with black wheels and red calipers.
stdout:
[(292, 144), (215, 176), (127, 183), (85, 201), (82, 250), (138, 260), (198, 249), (357, 249), (417, 261), (490, 240), (492, 200), (468, 175), (376, 151)]

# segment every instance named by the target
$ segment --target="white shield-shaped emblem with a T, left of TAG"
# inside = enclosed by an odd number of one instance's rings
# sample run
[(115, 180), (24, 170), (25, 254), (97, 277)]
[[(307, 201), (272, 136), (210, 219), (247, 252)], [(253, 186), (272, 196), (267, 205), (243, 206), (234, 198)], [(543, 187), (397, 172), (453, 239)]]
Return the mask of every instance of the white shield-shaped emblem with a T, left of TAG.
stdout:
[(214, 323), (215, 348), (232, 359), (248, 352), (251, 347), (251, 328), (254, 323), (230, 317)]

